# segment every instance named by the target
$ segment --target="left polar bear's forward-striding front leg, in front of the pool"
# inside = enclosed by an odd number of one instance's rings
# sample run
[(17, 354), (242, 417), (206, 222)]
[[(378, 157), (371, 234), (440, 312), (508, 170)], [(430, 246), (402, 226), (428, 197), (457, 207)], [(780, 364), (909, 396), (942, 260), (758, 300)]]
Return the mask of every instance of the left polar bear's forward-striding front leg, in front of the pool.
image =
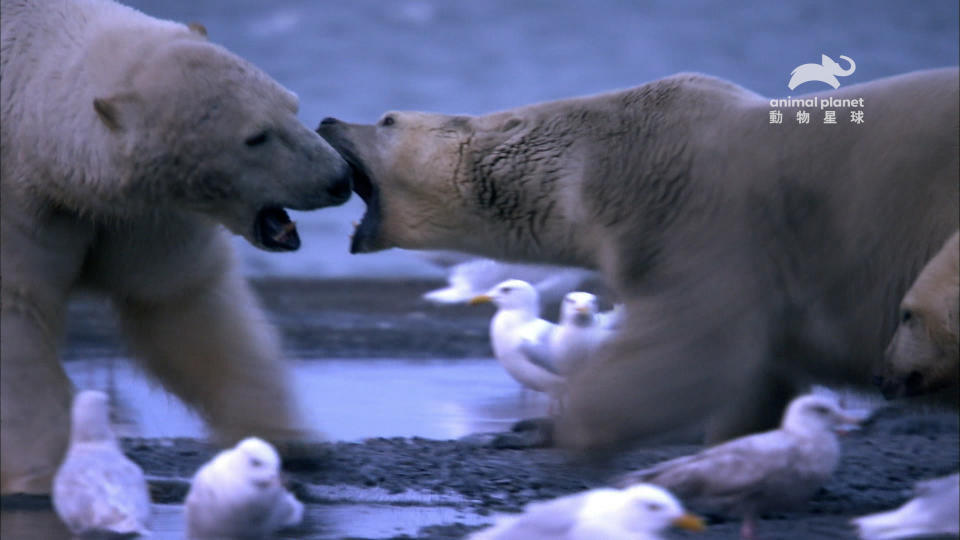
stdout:
[(138, 360), (225, 443), (296, 438), (278, 338), (232, 266), (162, 299), (115, 300)]

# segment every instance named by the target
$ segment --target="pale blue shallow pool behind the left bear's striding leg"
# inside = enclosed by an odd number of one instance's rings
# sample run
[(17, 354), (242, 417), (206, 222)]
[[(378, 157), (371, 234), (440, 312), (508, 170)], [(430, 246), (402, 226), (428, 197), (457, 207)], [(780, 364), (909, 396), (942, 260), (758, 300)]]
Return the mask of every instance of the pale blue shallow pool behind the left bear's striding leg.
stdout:
[[(202, 437), (203, 423), (125, 359), (67, 362), (78, 389), (110, 394), (122, 436)], [(503, 431), (542, 416), (547, 399), (522, 392), (490, 359), (303, 360), (291, 363), (304, 417), (330, 440), (451, 439)]]

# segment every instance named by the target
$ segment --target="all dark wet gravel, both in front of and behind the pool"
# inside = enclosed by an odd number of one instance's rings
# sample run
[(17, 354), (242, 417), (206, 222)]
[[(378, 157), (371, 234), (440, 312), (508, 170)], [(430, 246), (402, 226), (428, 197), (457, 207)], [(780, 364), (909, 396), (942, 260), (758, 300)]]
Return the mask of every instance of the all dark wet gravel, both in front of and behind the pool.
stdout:
[[(314, 358), (477, 357), (490, 354), (489, 308), (438, 307), (420, 300), (437, 282), (291, 281), (255, 283), (290, 354)], [(545, 313), (555, 313), (551, 307)], [(99, 302), (71, 306), (68, 357), (122, 350)], [(893, 508), (916, 480), (955, 472), (960, 438), (955, 411), (885, 407), (863, 429), (842, 439), (844, 457), (833, 479), (800, 512), (766, 516), (767, 539), (854, 538), (850, 518)], [(514, 439), (460, 441), (368, 439), (306, 446), (284, 464), (291, 489), (308, 505), (336, 504), (346, 487), (455, 494), (453, 503), (479, 514), (516, 512), (528, 502), (602, 486), (618, 473), (697, 451), (696, 445), (634, 448), (604, 456), (556, 448), (511, 448)], [(124, 448), (151, 478), (154, 502), (180, 503), (193, 472), (217, 450), (191, 439), (125, 439)], [(332, 488), (332, 489), (331, 489)], [(451, 504), (451, 503), (444, 503)], [(694, 509), (696, 510), (696, 509)], [(704, 533), (677, 538), (738, 538), (739, 522), (707, 516)], [(421, 529), (415, 538), (462, 538), (477, 527)], [(293, 536), (296, 537), (296, 530)], [(408, 537), (403, 537), (408, 538)]]

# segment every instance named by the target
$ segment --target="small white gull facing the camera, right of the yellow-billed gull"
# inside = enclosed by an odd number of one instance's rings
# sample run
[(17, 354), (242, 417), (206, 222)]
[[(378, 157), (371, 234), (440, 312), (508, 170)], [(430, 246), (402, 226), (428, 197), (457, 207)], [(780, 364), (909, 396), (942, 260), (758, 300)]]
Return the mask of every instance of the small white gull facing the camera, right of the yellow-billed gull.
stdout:
[(583, 366), (613, 332), (601, 327), (597, 297), (588, 292), (567, 293), (560, 304), (560, 322), (547, 339), (549, 359), (567, 376)]

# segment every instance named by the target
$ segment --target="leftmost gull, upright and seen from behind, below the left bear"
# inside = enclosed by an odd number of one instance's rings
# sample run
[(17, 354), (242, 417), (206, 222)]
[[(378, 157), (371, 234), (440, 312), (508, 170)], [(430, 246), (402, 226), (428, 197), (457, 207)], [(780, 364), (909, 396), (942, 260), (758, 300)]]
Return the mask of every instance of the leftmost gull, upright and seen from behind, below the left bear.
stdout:
[(103, 392), (83, 391), (73, 400), (70, 446), (53, 478), (53, 508), (78, 536), (150, 534), (147, 481), (117, 445)]

